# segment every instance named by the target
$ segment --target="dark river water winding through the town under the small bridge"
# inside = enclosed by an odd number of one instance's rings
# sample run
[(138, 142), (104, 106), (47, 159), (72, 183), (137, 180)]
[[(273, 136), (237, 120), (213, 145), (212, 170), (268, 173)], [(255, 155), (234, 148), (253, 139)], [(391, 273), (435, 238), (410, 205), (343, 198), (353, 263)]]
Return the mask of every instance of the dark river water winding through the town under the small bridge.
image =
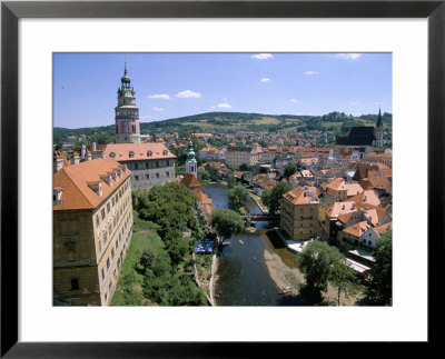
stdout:
[[(208, 185), (205, 191), (212, 199), (215, 208), (228, 208), (226, 186)], [(261, 212), (251, 199), (246, 207), (250, 213)], [(270, 225), (257, 222), (256, 228), (266, 231)], [(265, 245), (259, 231), (255, 233), (243, 231), (226, 240), (229, 240), (231, 246), (225, 247), (222, 256), (217, 259), (215, 293), (221, 293), (220, 298), (216, 299), (217, 306), (298, 305), (297, 300), (288, 301), (284, 296), (277, 295), (279, 289), (270, 278), (265, 263)]]

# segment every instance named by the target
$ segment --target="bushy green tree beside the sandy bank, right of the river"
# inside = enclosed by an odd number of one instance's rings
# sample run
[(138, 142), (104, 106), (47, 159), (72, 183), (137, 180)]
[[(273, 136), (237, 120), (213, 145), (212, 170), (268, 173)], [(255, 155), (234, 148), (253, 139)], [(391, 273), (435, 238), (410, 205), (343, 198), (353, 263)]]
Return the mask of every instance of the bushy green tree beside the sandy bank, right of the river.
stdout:
[(344, 256), (337, 248), (318, 240), (310, 241), (297, 257), (309, 287), (326, 290), (330, 272)]

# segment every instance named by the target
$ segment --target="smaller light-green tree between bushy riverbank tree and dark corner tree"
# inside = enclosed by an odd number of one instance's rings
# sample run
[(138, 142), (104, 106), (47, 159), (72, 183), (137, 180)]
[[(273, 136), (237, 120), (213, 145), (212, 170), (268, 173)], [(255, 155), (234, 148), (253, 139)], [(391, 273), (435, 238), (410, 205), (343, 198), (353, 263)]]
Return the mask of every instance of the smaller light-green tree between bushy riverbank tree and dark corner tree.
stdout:
[(346, 265), (345, 259), (335, 262), (330, 268), (329, 282), (337, 288), (337, 302), (340, 305), (342, 292), (346, 298), (355, 296), (359, 290), (354, 270)]

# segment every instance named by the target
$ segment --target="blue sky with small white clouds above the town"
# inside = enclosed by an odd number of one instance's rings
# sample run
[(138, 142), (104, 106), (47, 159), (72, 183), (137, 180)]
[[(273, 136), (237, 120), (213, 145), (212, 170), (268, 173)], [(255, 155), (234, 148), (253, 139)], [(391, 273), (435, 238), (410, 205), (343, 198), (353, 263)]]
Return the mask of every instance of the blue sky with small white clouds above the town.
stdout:
[(55, 127), (113, 124), (125, 61), (141, 122), (392, 112), (390, 53), (55, 53)]

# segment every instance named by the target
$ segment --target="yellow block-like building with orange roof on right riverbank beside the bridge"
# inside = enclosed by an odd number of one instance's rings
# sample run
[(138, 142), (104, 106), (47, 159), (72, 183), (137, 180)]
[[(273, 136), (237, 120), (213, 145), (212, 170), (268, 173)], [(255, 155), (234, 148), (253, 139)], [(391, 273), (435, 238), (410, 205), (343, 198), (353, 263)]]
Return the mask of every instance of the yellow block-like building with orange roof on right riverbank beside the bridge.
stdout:
[(280, 226), (294, 240), (318, 236), (318, 195), (315, 187), (295, 188), (283, 195)]

